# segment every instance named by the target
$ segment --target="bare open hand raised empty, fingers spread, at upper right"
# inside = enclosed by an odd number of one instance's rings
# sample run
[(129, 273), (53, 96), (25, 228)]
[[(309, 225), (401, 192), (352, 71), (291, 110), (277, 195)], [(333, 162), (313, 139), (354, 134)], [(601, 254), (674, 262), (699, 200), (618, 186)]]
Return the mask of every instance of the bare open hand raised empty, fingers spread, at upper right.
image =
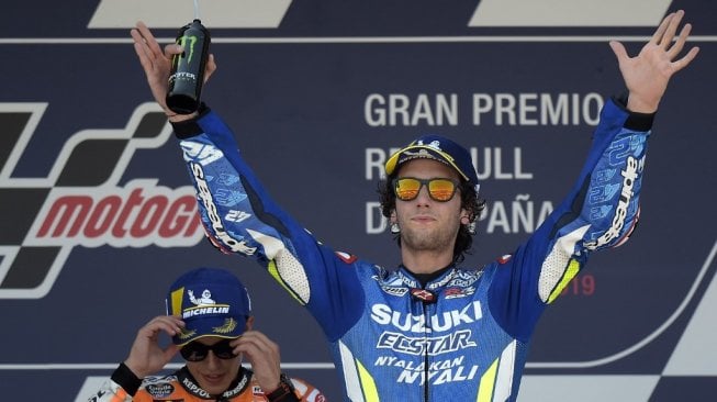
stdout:
[(627, 101), (629, 111), (654, 113), (672, 75), (685, 68), (697, 56), (699, 48), (695, 46), (683, 57), (677, 58), (692, 31), (691, 24), (684, 24), (675, 40), (683, 16), (682, 10), (665, 16), (650, 41), (635, 57), (627, 55), (621, 43), (617, 41), (609, 43), (629, 91)]

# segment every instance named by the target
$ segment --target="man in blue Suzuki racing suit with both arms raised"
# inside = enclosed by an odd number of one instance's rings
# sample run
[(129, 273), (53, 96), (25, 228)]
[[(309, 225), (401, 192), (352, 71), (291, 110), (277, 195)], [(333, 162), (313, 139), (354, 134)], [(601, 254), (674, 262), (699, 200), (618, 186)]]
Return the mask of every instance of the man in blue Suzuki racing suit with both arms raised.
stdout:
[[(256, 258), (323, 328), (350, 401), (515, 401), (530, 336), (544, 309), (593, 250), (621, 244), (638, 217), (652, 118), (691, 25), (668, 15), (640, 54), (617, 42), (628, 97), (609, 100), (579, 179), (513, 255), (459, 268), (484, 201), (463, 147), (424, 136), (385, 164), (382, 210), (402, 265), (388, 270), (320, 243), (267, 194), (234, 134), (209, 108), (177, 115), (165, 103), (169, 60), (142, 23), (135, 51), (180, 139), (213, 244)], [(675, 40), (676, 41), (673, 41)], [(216, 65), (210, 56), (206, 77)], [(606, 189), (618, 189), (607, 191)], [(247, 197), (226, 198), (223, 193)], [(232, 219), (245, 211), (243, 219)]]

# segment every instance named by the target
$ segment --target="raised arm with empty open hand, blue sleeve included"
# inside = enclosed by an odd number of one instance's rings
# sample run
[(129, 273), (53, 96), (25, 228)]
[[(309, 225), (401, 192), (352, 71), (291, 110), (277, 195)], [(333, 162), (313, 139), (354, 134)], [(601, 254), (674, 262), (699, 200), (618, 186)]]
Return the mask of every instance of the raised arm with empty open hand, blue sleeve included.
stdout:
[(668, 15), (636, 57), (610, 42), (629, 91), (627, 110), (621, 99), (605, 104), (578, 181), (497, 271), (490, 290), (493, 314), (514, 336), (528, 339), (542, 309), (583, 269), (590, 254), (624, 244), (635, 228), (652, 113), (672, 75), (698, 52), (693, 47), (677, 58), (692, 29), (685, 24), (674, 40), (683, 15)]

